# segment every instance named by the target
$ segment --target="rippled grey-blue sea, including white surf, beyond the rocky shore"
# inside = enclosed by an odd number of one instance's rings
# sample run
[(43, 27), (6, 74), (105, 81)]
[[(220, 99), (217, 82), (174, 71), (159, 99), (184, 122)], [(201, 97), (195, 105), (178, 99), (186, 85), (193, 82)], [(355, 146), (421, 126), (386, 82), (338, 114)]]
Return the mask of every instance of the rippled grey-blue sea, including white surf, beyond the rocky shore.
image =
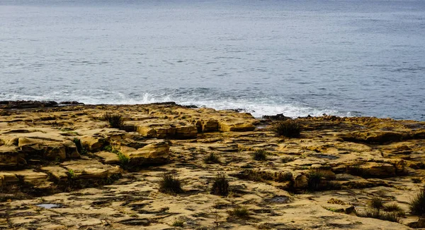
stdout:
[(425, 121), (424, 0), (0, 0), (0, 100)]

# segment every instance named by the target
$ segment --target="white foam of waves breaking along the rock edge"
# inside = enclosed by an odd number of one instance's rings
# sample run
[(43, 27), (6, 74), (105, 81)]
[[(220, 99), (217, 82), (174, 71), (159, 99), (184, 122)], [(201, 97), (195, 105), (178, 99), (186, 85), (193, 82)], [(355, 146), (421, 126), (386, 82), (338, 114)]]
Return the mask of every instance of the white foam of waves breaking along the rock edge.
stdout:
[(249, 101), (247, 99), (206, 99), (196, 100), (193, 95), (191, 97), (176, 97), (173, 95), (153, 95), (145, 92), (140, 97), (128, 97), (123, 92), (111, 92), (107, 90), (94, 90), (86, 92), (84, 90), (55, 91), (45, 95), (0, 95), (4, 100), (54, 100), (77, 101), (84, 104), (149, 104), (154, 102), (176, 102), (182, 105), (196, 105), (197, 107), (209, 107), (212, 109), (241, 109), (255, 117), (263, 115), (284, 114), (285, 116), (322, 116), (322, 114), (336, 116), (353, 116), (351, 112), (341, 112), (334, 109), (319, 109), (303, 106), (298, 103), (277, 104), (273, 101)]

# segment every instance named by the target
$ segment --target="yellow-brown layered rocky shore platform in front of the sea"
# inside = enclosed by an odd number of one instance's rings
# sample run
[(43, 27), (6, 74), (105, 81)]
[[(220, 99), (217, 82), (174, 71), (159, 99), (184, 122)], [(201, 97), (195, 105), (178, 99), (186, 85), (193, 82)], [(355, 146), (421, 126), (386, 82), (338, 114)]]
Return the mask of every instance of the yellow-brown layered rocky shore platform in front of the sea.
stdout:
[[(273, 128), (285, 119), (0, 102), (0, 229), (425, 226), (409, 209), (424, 188), (425, 122), (307, 117), (287, 138)], [(181, 190), (164, 190), (166, 176)]]

